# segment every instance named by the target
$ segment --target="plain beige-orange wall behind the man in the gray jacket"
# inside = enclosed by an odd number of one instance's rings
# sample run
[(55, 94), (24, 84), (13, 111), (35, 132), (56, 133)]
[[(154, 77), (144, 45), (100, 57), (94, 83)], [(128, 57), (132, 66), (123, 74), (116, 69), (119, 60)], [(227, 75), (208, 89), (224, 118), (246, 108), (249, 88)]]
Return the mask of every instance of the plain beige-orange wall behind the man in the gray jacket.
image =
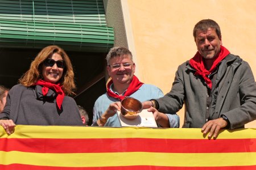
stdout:
[[(250, 63), (256, 76), (256, 1), (254, 0), (121, 0), (127, 4), (139, 78), (164, 94), (177, 66), (196, 53), (192, 30), (201, 19), (221, 27), (223, 45)], [(127, 16), (124, 16), (126, 18)], [(129, 35), (128, 35), (129, 36)], [(138, 70), (137, 70), (138, 71)], [(255, 108), (256, 111), (256, 108)], [(184, 111), (179, 112), (181, 125)], [(246, 125), (256, 128), (256, 121)]]

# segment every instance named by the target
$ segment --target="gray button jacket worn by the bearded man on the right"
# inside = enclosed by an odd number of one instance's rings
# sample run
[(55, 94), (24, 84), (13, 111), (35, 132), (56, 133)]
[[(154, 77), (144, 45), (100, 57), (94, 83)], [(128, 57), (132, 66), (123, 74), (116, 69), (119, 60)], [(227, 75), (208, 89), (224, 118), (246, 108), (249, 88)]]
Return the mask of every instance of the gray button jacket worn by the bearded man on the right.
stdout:
[(195, 70), (184, 62), (177, 69), (171, 91), (160, 99), (159, 111), (175, 113), (185, 105), (183, 128), (202, 128), (208, 121), (206, 109), (210, 109), (209, 120), (224, 114), (230, 129), (244, 128), (247, 122), (256, 119), (256, 84), (247, 62), (229, 54), (218, 65), (212, 101), (207, 108), (207, 85), (204, 79), (194, 75)]

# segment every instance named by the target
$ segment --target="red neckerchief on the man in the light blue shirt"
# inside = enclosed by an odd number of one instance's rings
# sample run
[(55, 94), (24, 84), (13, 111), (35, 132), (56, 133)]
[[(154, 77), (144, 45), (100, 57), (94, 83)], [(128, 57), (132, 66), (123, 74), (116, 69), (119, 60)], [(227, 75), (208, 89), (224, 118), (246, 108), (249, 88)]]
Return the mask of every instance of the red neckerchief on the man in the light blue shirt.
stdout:
[(125, 94), (123, 94), (123, 96), (119, 96), (119, 95), (115, 94), (113, 91), (111, 91), (110, 90), (110, 85), (111, 84), (113, 84), (113, 80), (110, 80), (108, 85), (107, 85), (107, 94), (111, 97), (114, 97), (115, 99), (122, 100), (122, 99), (125, 98), (125, 96), (130, 96), (135, 91), (137, 91), (139, 89), (139, 87), (142, 86), (143, 83), (140, 82), (139, 79), (137, 78), (137, 76), (134, 75), (133, 80), (131, 80), (131, 84), (129, 85)]

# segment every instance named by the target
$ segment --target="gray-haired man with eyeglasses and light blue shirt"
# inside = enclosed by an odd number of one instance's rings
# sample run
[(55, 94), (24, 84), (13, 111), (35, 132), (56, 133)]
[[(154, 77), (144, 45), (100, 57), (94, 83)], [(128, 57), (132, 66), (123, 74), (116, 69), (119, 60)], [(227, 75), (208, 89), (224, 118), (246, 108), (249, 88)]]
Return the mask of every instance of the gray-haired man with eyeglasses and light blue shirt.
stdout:
[[(107, 92), (98, 97), (93, 108), (93, 125), (120, 127), (116, 113), (120, 102), (126, 96), (139, 101), (158, 99), (163, 92), (156, 86), (139, 82), (135, 73), (135, 63), (130, 50), (123, 47), (110, 49), (106, 56), (107, 70), (111, 80), (107, 84)], [(179, 128), (179, 116), (176, 113), (164, 114), (150, 108), (156, 123), (164, 128)]]

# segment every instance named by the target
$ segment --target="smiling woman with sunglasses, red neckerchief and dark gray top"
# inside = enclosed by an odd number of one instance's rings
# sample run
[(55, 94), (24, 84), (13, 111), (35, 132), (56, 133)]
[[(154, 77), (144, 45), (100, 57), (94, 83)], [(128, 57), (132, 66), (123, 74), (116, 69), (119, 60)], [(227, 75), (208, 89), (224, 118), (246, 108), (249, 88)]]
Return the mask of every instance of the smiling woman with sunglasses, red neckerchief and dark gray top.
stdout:
[(16, 124), (82, 126), (76, 102), (67, 96), (75, 88), (69, 57), (59, 46), (47, 46), (9, 91), (0, 125), (9, 135)]

